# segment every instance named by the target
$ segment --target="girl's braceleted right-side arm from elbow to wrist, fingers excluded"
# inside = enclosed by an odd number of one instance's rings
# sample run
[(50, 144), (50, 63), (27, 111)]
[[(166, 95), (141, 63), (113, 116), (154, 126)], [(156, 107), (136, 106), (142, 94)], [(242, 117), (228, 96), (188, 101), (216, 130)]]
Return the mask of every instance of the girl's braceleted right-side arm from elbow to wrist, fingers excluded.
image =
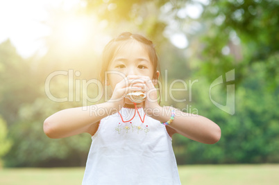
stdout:
[[(153, 112), (151, 117), (163, 123), (169, 121), (171, 117), (170, 107), (159, 106), (155, 109), (157, 110)], [(210, 119), (196, 114), (181, 112), (178, 109), (175, 109), (175, 112), (176, 116), (169, 127), (176, 130), (176, 133), (206, 144), (214, 144), (219, 141), (221, 129)]]

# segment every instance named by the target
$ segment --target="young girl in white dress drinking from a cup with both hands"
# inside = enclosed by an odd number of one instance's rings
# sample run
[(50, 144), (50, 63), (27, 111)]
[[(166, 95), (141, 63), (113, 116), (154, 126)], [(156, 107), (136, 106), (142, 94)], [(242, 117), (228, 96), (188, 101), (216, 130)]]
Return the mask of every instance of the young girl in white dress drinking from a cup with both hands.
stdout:
[(50, 138), (91, 134), (84, 185), (180, 184), (171, 136), (219, 141), (221, 130), (208, 118), (158, 104), (154, 85), (159, 76), (153, 43), (122, 33), (103, 51), (101, 80), (112, 88), (110, 100), (87, 109), (65, 109), (44, 121)]

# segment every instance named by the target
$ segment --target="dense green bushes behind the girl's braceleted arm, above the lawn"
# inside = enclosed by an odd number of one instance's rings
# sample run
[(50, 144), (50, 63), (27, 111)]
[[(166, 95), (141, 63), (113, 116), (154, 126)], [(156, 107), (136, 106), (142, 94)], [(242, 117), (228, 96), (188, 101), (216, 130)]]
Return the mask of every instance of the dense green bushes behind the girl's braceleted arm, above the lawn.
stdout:
[[(221, 127), (221, 140), (214, 145), (174, 136), (178, 164), (234, 164), (278, 162), (279, 106), (277, 89), (267, 94), (264, 64), (253, 64), (247, 78), (235, 91), (235, 115), (215, 107), (208, 98), (206, 80), (194, 88), (194, 107), (198, 114), (210, 118)], [(216, 90), (214, 90), (216, 91)], [(226, 104), (226, 94), (216, 91), (214, 99)], [(213, 97), (212, 97), (213, 98)], [(225, 103), (224, 103), (225, 102)]]

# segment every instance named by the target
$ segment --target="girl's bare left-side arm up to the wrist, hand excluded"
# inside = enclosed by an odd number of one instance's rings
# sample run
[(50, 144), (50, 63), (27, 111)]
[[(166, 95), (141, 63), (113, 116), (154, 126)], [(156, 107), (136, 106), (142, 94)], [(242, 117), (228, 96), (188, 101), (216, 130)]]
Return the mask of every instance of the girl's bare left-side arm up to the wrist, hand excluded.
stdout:
[(50, 138), (58, 139), (88, 132), (90, 134), (98, 129), (96, 123), (117, 109), (113, 103), (101, 103), (87, 107), (64, 109), (49, 116), (44, 121), (44, 133)]

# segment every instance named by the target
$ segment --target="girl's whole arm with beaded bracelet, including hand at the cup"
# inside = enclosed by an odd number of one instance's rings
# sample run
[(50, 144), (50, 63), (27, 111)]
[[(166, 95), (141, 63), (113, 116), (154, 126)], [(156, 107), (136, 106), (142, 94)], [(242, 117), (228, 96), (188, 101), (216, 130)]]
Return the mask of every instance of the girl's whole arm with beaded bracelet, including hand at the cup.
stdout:
[[(171, 107), (160, 107), (157, 101), (157, 89), (153, 85), (153, 81), (148, 77), (142, 77), (146, 83), (146, 115), (157, 119), (160, 122), (169, 121), (171, 117)], [(210, 121), (210, 119), (195, 114), (181, 112), (175, 109), (176, 116), (174, 121), (169, 125), (171, 134), (178, 133), (189, 139), (201, 143), (214, 144), (221, 137), (220, 127)]]

